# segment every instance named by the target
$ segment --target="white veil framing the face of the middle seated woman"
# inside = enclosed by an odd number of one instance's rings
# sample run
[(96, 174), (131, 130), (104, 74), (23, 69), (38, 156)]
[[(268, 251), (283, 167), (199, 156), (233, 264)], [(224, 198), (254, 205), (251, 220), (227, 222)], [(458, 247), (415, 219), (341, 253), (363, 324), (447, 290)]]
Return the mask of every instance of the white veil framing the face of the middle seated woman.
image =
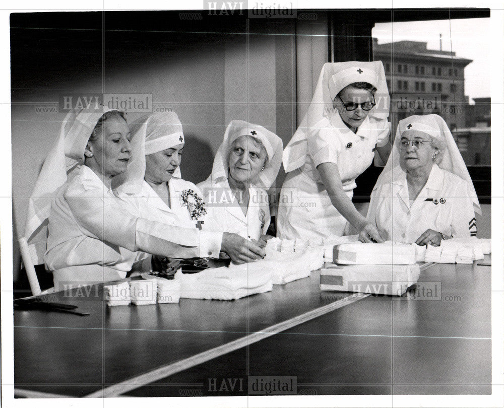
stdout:
[(268, 153), (268, 162), (264, 170), (259, 173), (257, 180), (253, 180), (252, 184), (269, 189), (277, 178), (278, 171), (282, 164), (283, 142), (275, 133), (267, 128), (248, 123), (244, 120), (231, 120), (224, 132), (224, 140), (219, 146), (214, 158), (212, 166), (211, 179), (212, 184), (219, 181), (219, 179), (228, 177), (229, 170), (229, 152), (232, 143), (242, 135), (250, 135), (259, 139), (266, 148)]

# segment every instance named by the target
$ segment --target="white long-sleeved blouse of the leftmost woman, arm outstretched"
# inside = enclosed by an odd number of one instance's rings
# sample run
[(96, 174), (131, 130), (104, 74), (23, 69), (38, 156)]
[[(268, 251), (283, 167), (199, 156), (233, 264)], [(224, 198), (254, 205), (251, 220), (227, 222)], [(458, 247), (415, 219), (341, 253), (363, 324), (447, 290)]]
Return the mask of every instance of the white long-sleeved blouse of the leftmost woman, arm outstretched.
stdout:
[(222, 234), (143, 218), (87, 166), (62, 189), (51, 205), (44, 258), (55, 287), (61, 281), (124, 278), (139, 250), (169, 257), (218, 256)]

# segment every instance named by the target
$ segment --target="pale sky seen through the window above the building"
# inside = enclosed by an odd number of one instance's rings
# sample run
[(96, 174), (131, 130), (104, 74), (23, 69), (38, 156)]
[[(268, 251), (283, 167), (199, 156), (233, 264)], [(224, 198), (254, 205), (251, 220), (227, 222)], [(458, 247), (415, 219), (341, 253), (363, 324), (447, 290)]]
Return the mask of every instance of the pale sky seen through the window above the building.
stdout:
[(472, 59), (465, 69), (465, 94), (469, 98), (490, 96), (490, 75), (487, 60), (492, 44), (488, 37), (490, 19), (436, 20), (404, 23), (378, 23), (372, 31), (378, 43), (412, 40), (427, 42), (428, 49), (439, 49), (439, 33), (443, 34), (443, 50)]

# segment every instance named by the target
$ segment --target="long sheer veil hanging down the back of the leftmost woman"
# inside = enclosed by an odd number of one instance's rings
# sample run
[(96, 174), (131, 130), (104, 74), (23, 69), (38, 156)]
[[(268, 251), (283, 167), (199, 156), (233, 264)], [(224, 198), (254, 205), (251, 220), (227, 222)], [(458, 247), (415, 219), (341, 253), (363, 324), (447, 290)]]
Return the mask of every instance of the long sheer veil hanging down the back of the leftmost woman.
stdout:
[(59, 196), (60, 187), (84, 164), (84, 150), (91, 133), (101, 116), (111, 110), (115, 109), (103, 106), (99, 111), (71, 110), (61, 123), (58, 138), (42, 165), (28, 201), (24, 238), (34, 264), (44, 263), (51, 202)]

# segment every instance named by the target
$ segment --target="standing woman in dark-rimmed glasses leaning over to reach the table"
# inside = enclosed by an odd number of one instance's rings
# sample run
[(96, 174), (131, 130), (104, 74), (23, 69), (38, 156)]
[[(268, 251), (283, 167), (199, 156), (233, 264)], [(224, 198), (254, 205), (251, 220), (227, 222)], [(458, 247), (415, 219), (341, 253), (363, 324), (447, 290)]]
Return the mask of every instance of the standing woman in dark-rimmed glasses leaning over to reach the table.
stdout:
[(376, 150), (387, 161), (389, 104), (381, 61), (324, 64), (308, 111), (284, 150), (280, 238), (321, 244), (352, 225), (361, 241), (383, 241), (352, 195)]

